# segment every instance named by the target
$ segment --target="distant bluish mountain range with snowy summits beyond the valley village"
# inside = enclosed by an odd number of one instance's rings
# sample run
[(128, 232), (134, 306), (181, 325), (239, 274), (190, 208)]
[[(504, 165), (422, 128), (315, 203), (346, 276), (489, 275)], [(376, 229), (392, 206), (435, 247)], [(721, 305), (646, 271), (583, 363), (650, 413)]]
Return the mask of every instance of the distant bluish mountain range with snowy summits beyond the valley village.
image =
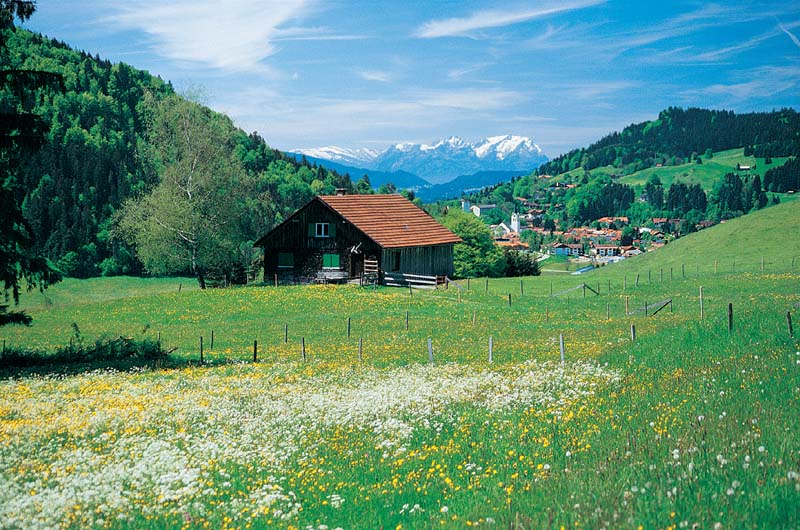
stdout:
[(329, 146), (295, 149), (293, 153), (349, 173), (354, 180), (368, 174), (373, 186), (392, 182), (422, 193), (426, 188), (475, 175), (484, 179), (468, 179), (471, 187), (490, 186), (499, 174), (527, 174), (549, 160), (530, 138), (514, 135), (492, 136), (475, 143), (451, 136), (433, 144), (398, 143), (383, 151)]

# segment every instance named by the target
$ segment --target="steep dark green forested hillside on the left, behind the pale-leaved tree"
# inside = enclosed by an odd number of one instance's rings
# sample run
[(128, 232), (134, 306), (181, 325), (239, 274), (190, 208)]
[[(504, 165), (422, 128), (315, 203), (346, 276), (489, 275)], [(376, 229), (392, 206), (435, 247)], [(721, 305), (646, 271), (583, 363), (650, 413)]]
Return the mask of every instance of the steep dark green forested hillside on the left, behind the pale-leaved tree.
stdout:
[[(11, 68), (58, 73), (64, 82), (63, 92), (37, 96), (34, 112), (49, 131), (18, 175), (33, 250), (71, 276), (141, 272), (133, 250), (111, 237), (111, 224), (126, 198), (148, 191), (159, 178), (161, 162), (148, 145), (150, 109), (144, 101), (146, 94), (156, 100), (174, 95), (172, 86), (125, 63), (112, 64), (19, 28), (8, 46)], [(314, 193), (353, 190), (336, 171), (298, 162), (227, 117), (210, 115), (229, 131), (247, 173), (241, 185), (249, 186), (253, 201), (242, 222), (251, 241)]]

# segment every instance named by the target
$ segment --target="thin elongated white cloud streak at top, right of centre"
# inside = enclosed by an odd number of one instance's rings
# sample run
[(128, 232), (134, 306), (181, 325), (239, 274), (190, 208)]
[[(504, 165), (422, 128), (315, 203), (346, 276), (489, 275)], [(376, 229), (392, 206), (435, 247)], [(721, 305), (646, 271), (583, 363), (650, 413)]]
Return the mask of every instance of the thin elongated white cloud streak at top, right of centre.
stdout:
[(571, 2), (561, 2), (550, 6), (539, 7), (537, 9), (528, 8), (516, 11), (493, 9), (478, 11), (463, 18), (431, 20), (419, 27), (415, 35), (422, 38), (464, 37), (475, 30), (510, 26), (512, 24), (519, 24), (520, 22), (527, 22), (565, 11), (590, 7), (603, 2), (604, 0), (573, 0)]

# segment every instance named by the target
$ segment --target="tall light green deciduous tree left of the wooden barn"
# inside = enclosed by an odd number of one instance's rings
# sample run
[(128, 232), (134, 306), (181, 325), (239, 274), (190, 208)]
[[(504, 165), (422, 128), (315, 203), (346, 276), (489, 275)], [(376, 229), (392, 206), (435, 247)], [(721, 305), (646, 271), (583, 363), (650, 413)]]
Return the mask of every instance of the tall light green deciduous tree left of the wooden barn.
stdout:
[(227, 276), (242, 242), (244, 169), (234, 156), (234, 127), (177, 96), (148, 98), (147, 105), (160, 181), (125, 203), (116, 233), (151, 273), (190, 271), (203, 289), (209, 272)]

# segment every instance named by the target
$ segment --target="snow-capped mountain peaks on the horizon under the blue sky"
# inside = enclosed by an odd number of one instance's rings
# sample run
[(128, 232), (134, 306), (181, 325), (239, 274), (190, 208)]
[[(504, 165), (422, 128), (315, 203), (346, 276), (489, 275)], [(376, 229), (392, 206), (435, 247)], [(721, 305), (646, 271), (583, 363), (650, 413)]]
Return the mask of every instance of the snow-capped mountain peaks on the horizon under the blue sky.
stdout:
[(451, 136), (432, 144), (398, 143), (382, 152), (340, 147), (295, 152), (367, 170), (406, 171), (433, 184), (479, 171), (530, 172), (548, 160), (530, 138), (512, 135), (492, 136), (476, 143)]

